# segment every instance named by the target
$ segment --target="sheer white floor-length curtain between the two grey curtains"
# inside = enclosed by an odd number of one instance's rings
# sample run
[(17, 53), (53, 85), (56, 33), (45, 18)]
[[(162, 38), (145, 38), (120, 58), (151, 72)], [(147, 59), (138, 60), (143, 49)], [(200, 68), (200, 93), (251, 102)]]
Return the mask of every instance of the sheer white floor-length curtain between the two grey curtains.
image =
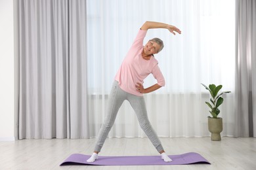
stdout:
[[(108, 94), (121, 61), (146, 20), (176, 25), (181, 35), (150, 29), (144, 39), (159, 37), (165, 48), (156, 54), (166, 86), (144, 95), (148, 117), (160, 137), (208, 136), (200, 84), (222, 84), (222, 135), (234, 136), (235, 1), (87, 1), (87, 71), (90, 135), (95, 137), (106, 114)], [(149, 76), (145, 87), (155, 84)], [(110, 137), (144, 137), (135, 112), (125, 102)]]

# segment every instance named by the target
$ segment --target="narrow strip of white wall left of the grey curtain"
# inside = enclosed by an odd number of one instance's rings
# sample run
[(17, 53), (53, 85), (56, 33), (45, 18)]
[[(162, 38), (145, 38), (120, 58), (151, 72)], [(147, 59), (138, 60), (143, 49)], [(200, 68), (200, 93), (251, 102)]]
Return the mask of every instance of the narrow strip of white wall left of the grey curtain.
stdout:
[(13, 1), (0, 0), (0, 141), (14, 140)]

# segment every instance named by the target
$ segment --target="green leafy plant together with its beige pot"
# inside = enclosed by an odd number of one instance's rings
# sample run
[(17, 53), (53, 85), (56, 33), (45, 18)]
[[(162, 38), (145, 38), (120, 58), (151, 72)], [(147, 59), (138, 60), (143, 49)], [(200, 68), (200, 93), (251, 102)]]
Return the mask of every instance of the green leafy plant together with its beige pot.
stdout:
[[(201, 83), (202, 84), (202, 83)], [(215, 84), (209, 84), (209, 87), (202, 84), (211, 94), (210, 101), (211, 103), (205, 101), (206, 105), (210, 108), (209, 112), (211, 116), (208, 116), (208, 129), (211, 132), (212, 141), (221, 141), (221, 131), (223, 131), (223, 118), (219, 118), (218, 115), (221, 112), (218, 107), (223, 103), (223, 93), (230, 92), (221, 92), (219, 90), (223, 88), (222, 85), (215, 86)]]

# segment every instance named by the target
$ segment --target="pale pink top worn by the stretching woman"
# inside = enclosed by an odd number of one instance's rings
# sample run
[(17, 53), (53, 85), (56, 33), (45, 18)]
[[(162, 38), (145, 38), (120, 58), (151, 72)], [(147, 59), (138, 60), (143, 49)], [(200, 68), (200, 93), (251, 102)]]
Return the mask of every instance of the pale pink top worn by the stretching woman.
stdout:
[(143, 84), (143, 80), (152, 73), (160, 86), (165, 86), (165, 79), (158, 67), (158, 61), (151, 56), (150, 60), (143, 59), (141, 52), (144, 48), (143, 40), (146, 36), (146, 30), (139, 30), (133, 45), (123, 59), (121, 67), (117, 71), (115, 80), (119, 82), (119, 87), (127, 93), (142, 96), (137, 92), (135, 84)]

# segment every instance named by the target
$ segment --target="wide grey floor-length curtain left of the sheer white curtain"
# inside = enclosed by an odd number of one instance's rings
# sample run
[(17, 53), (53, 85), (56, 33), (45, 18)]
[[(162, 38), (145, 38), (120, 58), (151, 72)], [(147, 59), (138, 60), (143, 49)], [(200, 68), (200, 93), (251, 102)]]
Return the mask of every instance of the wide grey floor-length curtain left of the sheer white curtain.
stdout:
[(85, 1), (14, 1), (16, 139), (87, 138)]

